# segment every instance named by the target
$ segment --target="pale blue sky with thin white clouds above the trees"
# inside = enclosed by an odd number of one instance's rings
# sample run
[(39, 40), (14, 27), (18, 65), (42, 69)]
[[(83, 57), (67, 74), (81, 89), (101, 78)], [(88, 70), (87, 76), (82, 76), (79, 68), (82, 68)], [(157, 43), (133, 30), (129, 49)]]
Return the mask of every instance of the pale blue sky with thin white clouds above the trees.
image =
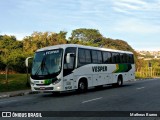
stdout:
[(160, 51), (160, 0), (0, 0), (0, 35), (97, 29), (135, 50)]

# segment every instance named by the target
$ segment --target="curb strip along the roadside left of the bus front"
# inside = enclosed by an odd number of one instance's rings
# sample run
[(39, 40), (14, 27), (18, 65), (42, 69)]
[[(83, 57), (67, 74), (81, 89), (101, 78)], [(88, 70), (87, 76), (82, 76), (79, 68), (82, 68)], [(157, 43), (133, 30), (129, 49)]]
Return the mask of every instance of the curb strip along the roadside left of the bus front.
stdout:
[(1, 95), (0, 99), (8, 98), (8, 97), (15, 97), (15, 96), (24, 96), (24, 95), (29, 95), (29, 94), (38, 94), (38, 93), (40, 92), (29, 91), (29, 92), (11, 93), (11, 94), (6, 94), (6, 95)]

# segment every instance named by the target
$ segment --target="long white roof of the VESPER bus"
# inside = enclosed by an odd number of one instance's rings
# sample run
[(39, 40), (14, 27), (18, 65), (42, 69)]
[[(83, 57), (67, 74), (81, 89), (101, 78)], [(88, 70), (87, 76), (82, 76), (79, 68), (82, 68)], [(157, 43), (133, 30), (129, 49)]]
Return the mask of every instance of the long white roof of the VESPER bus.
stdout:
[(109, 52), (119, 52), (119, 53), (133, 54), (132, 52), (129, 52), (129, 51), (114, 50), (114, 49), (101, 48), (101, 47), (84, 46), (84, 45), (79, 45), (79, 44), (54, 45), (54, 46), (49, 46), (49, 47), (44, 47), (44, 48), (38, 49), (36, 52), (46, 51), (46, 50), (53, 50), (53, 49), (60, 49), (60, 48), (65, 49), (67, 47), (78, 47), (78, 48), (85, 48), (85, 49), (93, 49), (93, 50), (102, 50), (102, 51), (109, 51)]

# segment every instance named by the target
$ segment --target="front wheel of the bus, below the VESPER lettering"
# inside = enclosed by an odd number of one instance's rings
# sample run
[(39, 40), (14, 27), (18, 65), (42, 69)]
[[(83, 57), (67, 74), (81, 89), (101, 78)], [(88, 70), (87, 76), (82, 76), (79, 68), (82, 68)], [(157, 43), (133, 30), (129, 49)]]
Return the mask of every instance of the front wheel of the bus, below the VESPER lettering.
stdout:
[(78, 83), (78, 93), (87, 92), (88, 86), (86, 80), (80, 80)]

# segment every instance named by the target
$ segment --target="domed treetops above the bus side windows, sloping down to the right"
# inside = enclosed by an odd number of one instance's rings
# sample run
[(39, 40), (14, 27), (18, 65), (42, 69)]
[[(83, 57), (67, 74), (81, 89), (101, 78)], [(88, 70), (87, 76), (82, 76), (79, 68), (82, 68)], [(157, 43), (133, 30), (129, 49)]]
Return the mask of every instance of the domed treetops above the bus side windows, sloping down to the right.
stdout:
[(82, 44), (89, 46), (103, 46), (105, 48), (125, 50), (134, 52), (133, 48), (123, 40), (114, 40), (111, 38), (103, 37), (100, 32), (96, 29), (85, 29), (80, 28), (73, 30), (71, 37), (69, 38), (70, 43)]

